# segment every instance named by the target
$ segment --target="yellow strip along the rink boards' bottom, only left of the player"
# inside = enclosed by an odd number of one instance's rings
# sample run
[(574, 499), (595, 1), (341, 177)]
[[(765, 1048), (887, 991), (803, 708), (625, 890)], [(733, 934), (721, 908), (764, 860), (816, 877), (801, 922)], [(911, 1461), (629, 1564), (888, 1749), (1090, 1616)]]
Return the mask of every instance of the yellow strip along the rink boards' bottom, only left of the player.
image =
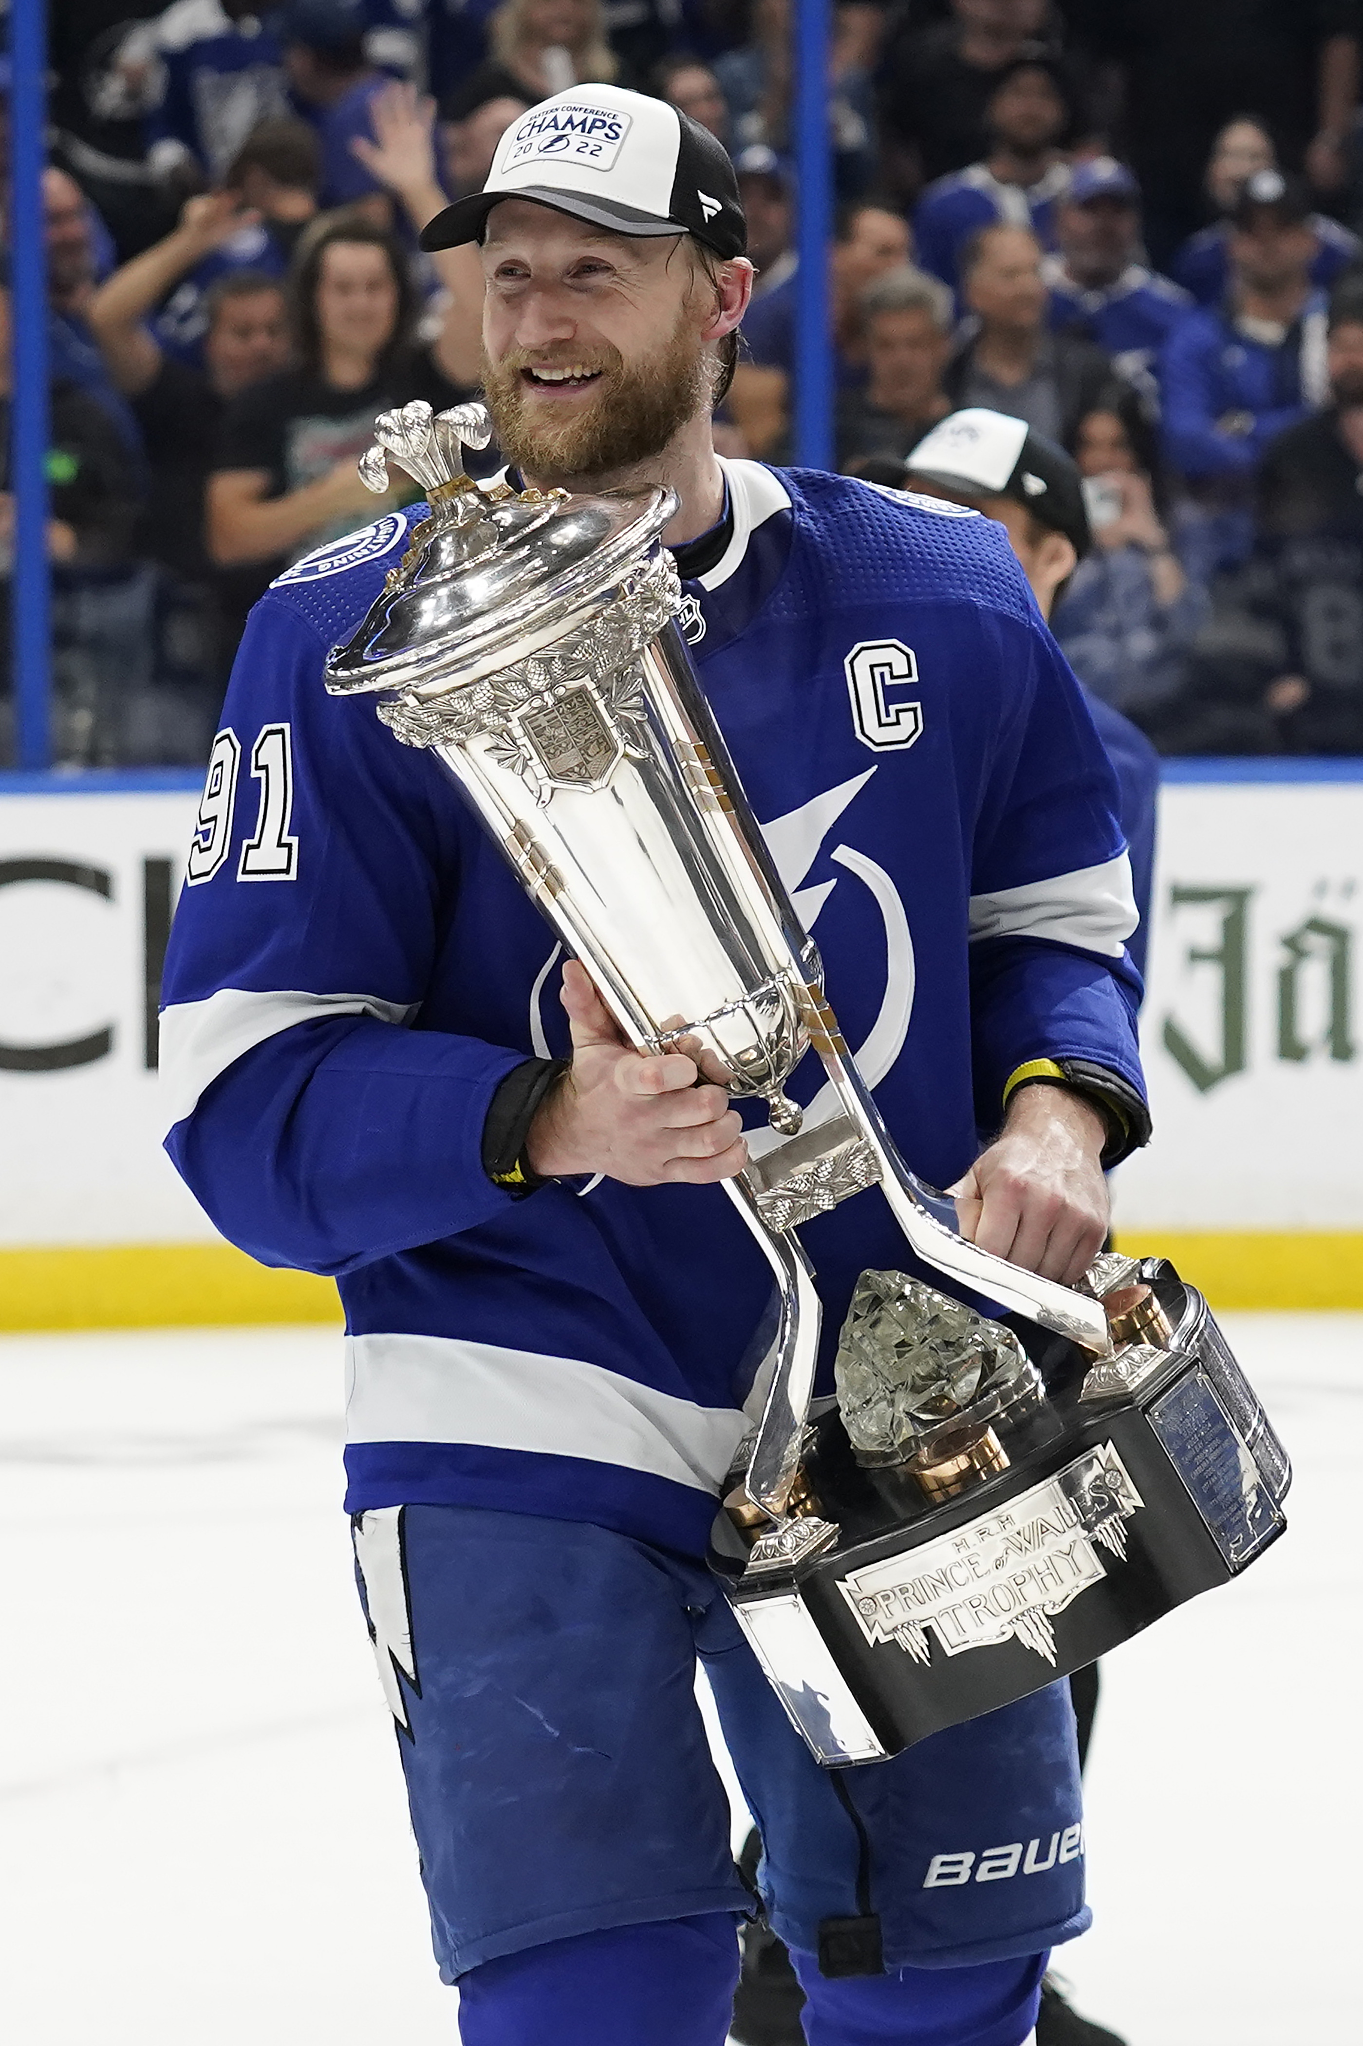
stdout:
[(0, 1330), (332, 1322), (332, 1279), (270, 1271), (231, 1244), (0, 1250)]

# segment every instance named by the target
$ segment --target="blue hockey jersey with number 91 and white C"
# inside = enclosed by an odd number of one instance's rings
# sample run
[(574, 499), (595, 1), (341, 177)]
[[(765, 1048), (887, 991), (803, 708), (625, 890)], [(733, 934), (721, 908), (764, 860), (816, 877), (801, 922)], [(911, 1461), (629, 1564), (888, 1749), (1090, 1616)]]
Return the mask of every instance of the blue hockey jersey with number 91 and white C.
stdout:
[[(1001, 526), (724, 466), (733, 536), (688, 585), (700, 675), (862, 1072), (948, 1185), (1027, 1060), (1140, 1084), (1111, 769)], [(483, 1170), (497, 1084), (567, 1050), (561, 949), (442, 763), (321, 683), (420, 516), (297, 563), (248, 622), (166, 966), (168, 1148), (252, 1256), (338, 1277), (352, 1510), (694, 1553), (767, 1269), (718, 1187), (514, 1201)], [(829, 1113), (812, 1056), (792, 1093)], [(804, 1238), (827, 1371), (858, 1275), (911, 1260), (874, 1189)]]

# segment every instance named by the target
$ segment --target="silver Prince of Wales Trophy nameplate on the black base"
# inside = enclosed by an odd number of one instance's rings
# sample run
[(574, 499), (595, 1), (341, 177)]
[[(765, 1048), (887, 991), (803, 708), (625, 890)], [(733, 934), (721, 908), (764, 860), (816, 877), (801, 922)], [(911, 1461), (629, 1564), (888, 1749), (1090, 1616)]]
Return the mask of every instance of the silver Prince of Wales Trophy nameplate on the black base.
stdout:
[(1111, 1442), (1091, 1449), (997, 1514), (982, 1514), (839, 1580), (872, 1643), (896, 1641), (931, 1661), (931, 1627), (946, 1655), (1019, 1641), (1056, 1661), (1052, 1618), (1107, 1575), (1099, 1547), (1126, 1559), (1126, 1520), (1144, 1500)]

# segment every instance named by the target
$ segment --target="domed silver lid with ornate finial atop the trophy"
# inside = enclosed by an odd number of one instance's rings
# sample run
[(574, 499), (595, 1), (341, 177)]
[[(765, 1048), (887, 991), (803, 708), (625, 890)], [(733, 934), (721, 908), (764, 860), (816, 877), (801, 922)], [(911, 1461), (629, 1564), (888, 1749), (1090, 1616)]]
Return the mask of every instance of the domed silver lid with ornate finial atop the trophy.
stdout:
[(327, 655), (334, 696), (444, 696), (551, 647), (647, 559), (675, 511), (671, 491), (569, 497), (465, 475), (460, 444), (485, 448), (483, 405), (432, 415), (424, 399), (385, 411), (360, 460), (372, 491), (389, 456), (428, 491), (430, 516), (344, 647)]

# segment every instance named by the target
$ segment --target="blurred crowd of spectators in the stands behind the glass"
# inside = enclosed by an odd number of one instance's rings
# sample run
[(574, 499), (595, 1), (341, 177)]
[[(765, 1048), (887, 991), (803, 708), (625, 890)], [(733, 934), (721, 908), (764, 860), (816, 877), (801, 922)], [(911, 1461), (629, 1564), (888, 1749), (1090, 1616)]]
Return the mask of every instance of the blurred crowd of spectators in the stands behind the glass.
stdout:
[[(1062, 442), (1095, 546), (1054, 630), (1162, 751), (1363, 753), (1361, 41), (1363, 0), (835, 4), (837, 464), (890, 481), (964, 405)], [(252, 602), (383, 509), (375, 413), (477, 391), (477, 254), (420, 227), (589, 80), (731, 149), (757, 284), (720, 442), (788, 460), (792, 0), (53, 12), (63, 763), (203, 757)], [(6, 415), (8, 325), (0, 284)], [(10, 528), (0, 489), (0, 567)]]

